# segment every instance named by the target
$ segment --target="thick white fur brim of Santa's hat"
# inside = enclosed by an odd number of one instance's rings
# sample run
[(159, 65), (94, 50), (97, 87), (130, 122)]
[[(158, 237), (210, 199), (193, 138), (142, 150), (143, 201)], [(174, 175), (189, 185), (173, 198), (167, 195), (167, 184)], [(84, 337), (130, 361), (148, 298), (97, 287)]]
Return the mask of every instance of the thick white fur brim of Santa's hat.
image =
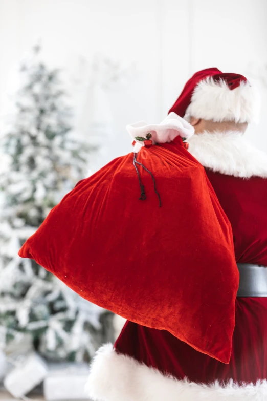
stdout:
[(191, 103), (186, 110), (188, 116), (205, 120), (252, 122), (258, 121), (260, 96), (247, 81), (231, 90), (224, 80), (214, 81), (208, 77), (196, 86)]

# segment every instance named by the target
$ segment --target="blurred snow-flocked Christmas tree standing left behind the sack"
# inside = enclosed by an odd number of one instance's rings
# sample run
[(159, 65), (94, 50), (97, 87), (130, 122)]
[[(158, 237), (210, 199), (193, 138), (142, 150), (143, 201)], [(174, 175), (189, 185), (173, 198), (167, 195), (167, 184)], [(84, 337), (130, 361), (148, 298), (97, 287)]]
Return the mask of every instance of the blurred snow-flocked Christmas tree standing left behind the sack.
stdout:
[(17, 251), (51, 208), (84, 177), (93, 149), (73, 139), (59, 71), (36, 47), (21, 67), (15, 114), (2, 133), (10, 159), (1, 174), (0, 334), (2, 346), (25, 333), (41, 355), (88, 360), (106, 340), (103, 311)]

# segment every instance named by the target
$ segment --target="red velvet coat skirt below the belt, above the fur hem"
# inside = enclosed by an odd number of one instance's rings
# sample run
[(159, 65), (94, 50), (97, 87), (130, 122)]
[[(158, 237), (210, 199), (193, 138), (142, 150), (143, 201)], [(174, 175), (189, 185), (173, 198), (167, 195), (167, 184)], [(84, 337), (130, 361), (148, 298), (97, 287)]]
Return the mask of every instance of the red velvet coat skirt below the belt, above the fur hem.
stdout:
[[(224, 327), (221, 327), (224, 330)], [(237, 298), (229, 364), (223, 364), (165, 330), (127, 322), (115, 347), (149, 367), (197, 383), (215, 380), (256, 383), (267, 378), (267, 298)]]

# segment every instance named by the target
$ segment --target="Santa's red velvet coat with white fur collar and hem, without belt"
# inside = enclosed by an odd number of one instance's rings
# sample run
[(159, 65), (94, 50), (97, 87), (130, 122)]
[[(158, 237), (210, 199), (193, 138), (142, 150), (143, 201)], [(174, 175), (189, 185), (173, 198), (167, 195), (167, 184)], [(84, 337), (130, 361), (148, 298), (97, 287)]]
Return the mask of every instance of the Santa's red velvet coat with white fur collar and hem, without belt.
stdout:
[[(206, 167), (232, 224), (237, 263), (267, 266), (267, 156), (233, 133), (195, 135), (189, 151)], [(98, 398), (101, 363), (111, 392), (102, 386)], [(229, 364), (195, 351), (167, 331), (127, 321), (115, 349), (99, 351), (88, 385), (104, 401), (263, 401), (266, 379), (267, 298), (237, 298)]]

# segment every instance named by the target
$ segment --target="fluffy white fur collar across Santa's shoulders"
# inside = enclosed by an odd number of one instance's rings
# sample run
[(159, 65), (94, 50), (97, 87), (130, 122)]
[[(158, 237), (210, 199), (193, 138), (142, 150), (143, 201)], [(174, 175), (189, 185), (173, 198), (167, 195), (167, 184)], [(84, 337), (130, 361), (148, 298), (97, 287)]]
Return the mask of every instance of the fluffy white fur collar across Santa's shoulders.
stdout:
[(267, 178), (267, 154), (236, 131), (204, 132), (188, 140), (188, 151), (204, 167), (240, 178)]

